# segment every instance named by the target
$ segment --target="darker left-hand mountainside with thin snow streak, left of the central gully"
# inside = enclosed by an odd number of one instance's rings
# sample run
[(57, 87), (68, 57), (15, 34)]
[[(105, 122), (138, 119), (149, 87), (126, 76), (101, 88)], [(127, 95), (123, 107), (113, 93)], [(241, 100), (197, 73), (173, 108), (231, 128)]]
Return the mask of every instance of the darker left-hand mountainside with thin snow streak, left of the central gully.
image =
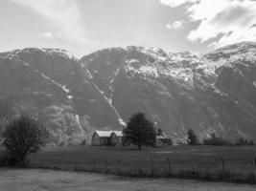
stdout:
[(33, 112), (59, 145), (89, 138), (93, 127), (115, 123), (114, 113), (73, 56), (62, 50), (24, 49), (0, 54), (1, 98), (16, 113)]

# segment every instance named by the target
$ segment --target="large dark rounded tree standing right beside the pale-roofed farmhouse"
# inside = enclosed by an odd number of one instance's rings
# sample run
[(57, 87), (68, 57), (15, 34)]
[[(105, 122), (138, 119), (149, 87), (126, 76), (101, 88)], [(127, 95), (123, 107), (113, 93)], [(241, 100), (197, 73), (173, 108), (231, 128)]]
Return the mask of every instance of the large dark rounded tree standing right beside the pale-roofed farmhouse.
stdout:
[(123, 133), (124, 139), (136, 144), (139, 150), (141, 150), (142, 145), (154, 145), (156, 132), (153, 123), (143, 113), (130, 117), (128, 126), (124, 129)]

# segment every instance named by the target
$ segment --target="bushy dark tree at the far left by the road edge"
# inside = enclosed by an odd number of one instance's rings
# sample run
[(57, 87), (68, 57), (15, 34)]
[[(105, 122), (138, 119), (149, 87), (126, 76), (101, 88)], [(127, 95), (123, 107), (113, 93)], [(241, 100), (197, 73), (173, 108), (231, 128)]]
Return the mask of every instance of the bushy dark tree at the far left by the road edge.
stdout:
[(40, 149), (47, 136), (48, 132), (37, 120), (21, 116), (6, 126), (3, 145), (17, 164), (24, 166), (28, 156)]

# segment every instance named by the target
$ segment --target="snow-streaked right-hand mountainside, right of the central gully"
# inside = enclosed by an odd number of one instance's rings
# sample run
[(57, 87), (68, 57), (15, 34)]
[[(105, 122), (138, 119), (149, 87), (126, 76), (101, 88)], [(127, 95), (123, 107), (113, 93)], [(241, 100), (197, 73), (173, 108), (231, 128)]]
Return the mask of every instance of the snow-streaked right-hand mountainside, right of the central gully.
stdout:
[(81, 63), (125, 121), (142, 111), (173, 138), (192, 128), (234, 139), (256, 138), (255, 60), (256, 45), (241, 43), (204, 55), (107, 49)]

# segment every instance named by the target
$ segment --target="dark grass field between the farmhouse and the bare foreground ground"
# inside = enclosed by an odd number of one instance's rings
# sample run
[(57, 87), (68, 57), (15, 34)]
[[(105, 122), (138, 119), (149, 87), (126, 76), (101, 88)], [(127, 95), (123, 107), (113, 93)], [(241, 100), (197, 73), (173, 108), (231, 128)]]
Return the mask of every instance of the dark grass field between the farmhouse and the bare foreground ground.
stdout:
[(31, 166), (134, 177), (256, 182), (255, 146), (58, 147), (31, 158)]

